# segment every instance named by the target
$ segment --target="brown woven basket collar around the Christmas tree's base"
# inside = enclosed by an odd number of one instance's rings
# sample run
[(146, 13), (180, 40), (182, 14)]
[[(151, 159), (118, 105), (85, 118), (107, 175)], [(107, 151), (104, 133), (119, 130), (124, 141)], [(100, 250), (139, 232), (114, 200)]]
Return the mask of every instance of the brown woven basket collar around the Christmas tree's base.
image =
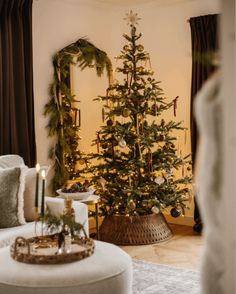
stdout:
[(100, 228), (100, 240), (117, 245), (159, 243), (171, 237), (171, 229), (162, 213), (106, 216)]

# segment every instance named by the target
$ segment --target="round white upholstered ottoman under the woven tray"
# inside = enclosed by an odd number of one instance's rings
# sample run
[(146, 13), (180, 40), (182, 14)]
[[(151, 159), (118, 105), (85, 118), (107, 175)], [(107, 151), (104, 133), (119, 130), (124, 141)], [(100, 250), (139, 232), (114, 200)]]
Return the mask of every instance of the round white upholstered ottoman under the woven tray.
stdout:
[(0, 250), (1, 294), (131, 294), (132, 260), (119, 247), (95, 241), (95, 252), (61, 265), (36, 265)]

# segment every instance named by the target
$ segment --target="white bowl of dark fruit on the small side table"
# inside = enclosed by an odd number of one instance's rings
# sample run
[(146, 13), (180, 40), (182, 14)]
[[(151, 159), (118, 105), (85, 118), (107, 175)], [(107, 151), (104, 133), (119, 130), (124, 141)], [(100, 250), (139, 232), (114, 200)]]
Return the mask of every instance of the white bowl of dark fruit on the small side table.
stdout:
[(84, 200), (87, 199), (95, 190), (88, 187), (88, 182), (83, 184), (76, 182), (72, 185), (64, 186), (62, 189), (57, 190), (59, 197), (62, 198), (72, 198), (74, 200)]

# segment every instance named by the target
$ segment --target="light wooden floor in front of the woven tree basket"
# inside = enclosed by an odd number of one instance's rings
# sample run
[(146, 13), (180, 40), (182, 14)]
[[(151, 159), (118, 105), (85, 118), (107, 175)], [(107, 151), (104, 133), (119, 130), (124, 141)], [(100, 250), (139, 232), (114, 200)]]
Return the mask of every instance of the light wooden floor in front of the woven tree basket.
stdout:
[(203, 238), (192, 227), (170, 225), (173, 237), (152, 245), (121, 246), (132, 258), (199, 270)]

